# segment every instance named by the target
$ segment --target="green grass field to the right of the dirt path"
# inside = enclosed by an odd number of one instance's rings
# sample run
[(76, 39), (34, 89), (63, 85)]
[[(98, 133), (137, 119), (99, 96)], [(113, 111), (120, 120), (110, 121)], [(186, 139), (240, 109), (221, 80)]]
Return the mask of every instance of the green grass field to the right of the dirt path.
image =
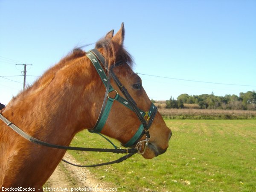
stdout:
[[(134, 155), (111, 166), (90, 168), (118, 191), (256, 191), (256, 120), (166, 120), (173, 136), (165, 154), (152, 160)], [(111, 147), (83, 131), (73, 146)], [(102, 163), (116, 154), (69, 151), (83, 164)]]

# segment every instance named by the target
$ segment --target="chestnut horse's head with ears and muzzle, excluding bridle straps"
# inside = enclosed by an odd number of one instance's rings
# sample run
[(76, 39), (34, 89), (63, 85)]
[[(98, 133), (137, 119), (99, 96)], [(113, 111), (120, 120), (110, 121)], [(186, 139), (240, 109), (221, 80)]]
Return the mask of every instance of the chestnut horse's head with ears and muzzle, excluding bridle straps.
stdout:
[[(115, 74), (114, 77), (118, 79), (118, 82), (116, 82), (115, 78), (111, 79), (111, 85), (113, 90), (115, 90), (111, 91), (111, 94), (113, 95), (111, 97), (114, 98), (116, 97), (116, 94), (118, 94), (122, 98), (129, 100), (129, 102), (124, 100), (123, 105), (120, 102), (113, 102), (108, 119), (105, 122), (104, 128), (101, 130), (102, 134), (116, 138), (122, 144), (130, 143), (131, 138), (137, 134), (138, 128), (142, 125), (140, 118), (138, 118), (138, 114), (136, 114), (134, 110), (125, 107), (125, 105), (134, 102), (135, 104), (133, 105), (135, 105), (139, 111), (145, 111), (145, 114), (143, 114), (145, 122), (150, 119), (148, 116), (149, 109), (154, 110), (154, 108), (156, 108), (151, 103), (145, 90), (143, 89), (142, 80), (132, 70), (131, 55), (123, 47), (124, 37), (125, 30), (122, 23), (122, 26), (116, 35), (113, 35), (113, 30), (111, 30), (107, 33), (105, 38), (102, 38), (96, 43), (95, 47), (97, 51), (99, 51), (99, 53), (105, 58), (107, 63), (107, 66), (105, 66), (106, 73), (112, 72), (112, 75)], [(116, 66), (117, 62), (118, 66)], [(119, 84), (122, 85), (120, 86)], [(92, 125), (95, 125), (99, 113), (101, 112), (101, 104), (105, 93), (105, 87), (99, 77), (95, 86), (97, 87), (98, 92), (95, 94), (97, 94), (99, 96), (98, 98), (101, 99), (99, 99), (98, 102), (95, 101), (95, 105), (93, 105), (94, 116), (92, 118)], [(127, 98), (127, 94), (122, 91), (123, 87), (125, 87), (125, 90), (131, 99)], [(130, 143), (132, 146), (137, 145), (137, 147), (139, 147), (138, 150), (143, 151), (141, 154), (145, 158), (153, 158), (164, 153), (168, 148), (169, 139), (172, 135), (171, 130), (166, 126), (159, 112), (156, 112), (154, 114), (154, 120), (153, 118), (151, 120), (152, 124), (150, 128), (148, 130), (144, 129), (140, 137), (136, 138), (137, 140), (134, 141), (134, 143)], [(90, 130), (90, 128), (88, 129)], [(147, 131), (150, 133), (150, 136), (145, 133)], [(149, 139), (147, 137), (150, 137), (148, 143), (140, 142)], [(140, 143), (140, 146), (138, 146), (138, 143)], [(145, 145), (148, 147), (146, 148)]]

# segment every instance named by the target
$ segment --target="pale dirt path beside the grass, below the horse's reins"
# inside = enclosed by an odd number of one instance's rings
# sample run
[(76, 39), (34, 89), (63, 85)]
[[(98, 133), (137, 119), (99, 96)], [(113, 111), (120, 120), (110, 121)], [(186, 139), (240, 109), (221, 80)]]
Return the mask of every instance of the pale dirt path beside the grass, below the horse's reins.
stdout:
[[(76, 162), (75, 158), (68, 153), (64, 155), (64, 159), (71, 163), (79, 164)], [(88, 169), (72, 166), (61, 161), (45, 184), (45, 187), (49, 187), (53, 190), (60, 188), (69, 188), (69, 190), (71, 190), (71, 188), (76, 188), (76, 191), (79, 187), (87, 188), (87, 190), (91, 188), (98, 188), (98, 190), (100, 188), (109, 189), (110, 187), (102, 182), (101, 179), (103, 178), (104, 176), (96, 179)]]

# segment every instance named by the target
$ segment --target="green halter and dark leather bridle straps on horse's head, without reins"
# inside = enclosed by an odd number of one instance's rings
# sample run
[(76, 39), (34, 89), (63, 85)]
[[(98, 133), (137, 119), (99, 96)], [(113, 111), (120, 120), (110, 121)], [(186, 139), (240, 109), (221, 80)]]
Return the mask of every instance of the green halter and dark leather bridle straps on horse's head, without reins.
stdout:
[[(105, 61), (105, 58), (102, 56), (102, 54), (97, 49), (90, 50), (86, 56), (90, 59), (93, 66), (95, 67), (97, 73), (99, 74), (103, 84), (106, 87), (105, 97), (103, 100), (101, 112), (99, 114), (99, 117), (97, 119), (96, 124), (94, 125), (93, 129), (90, 130), (92, 133), (100, 133), (105, 125), (106, 120), (108, 119), (111, 107), (113, 105), (113, 102), (116, 100), (125, 107), (129, 108), (131, 111), (134, 111), (136, 113), (137, 117), (140, 119), (141, 125), (139, 126), (137, 132), (134, 134), (131, 139), (125, 143), (122, 144), (124, 147), (132, 147), (135, 146), (135, 148), (138, 150), (139, 154), (144, 154), (145, 149), (148, 146), (148, 142), (150, 140), (150, 134), (149, 134), (149, 128), (154, 120), (154, 117), (157, 113), (157, 107), (151, 103), (151, 106), (148, 111), (143, 111), (140, 108), (137, 107), (136, 102), (131, 97), (131, 95), (128, 93), (128, 90), (123, 86), (123, 84), (119, 81), (115, 73), (113, 72), (113, 69), (115, 67), (119, 67), (122, 65), (122, 61), (119, 61), (110, 67)], [(101, 64), (100, 64), (100, 62)], [(105, 70), (108, 72), (108, 77), (105, 73)], [(123, 93), (126, 99), (124, 99), (122, 96), (118, 94), (117, 90), (114, 90), (113, 87), (110, 84), (111, 77), (115, 81), (116, 85), (119, 87), (119, 90)], [(109, 93), (115, 92), (115, 97), (111, 98), (109, 96)], [(145, 120), (147, 119), (147, 120)], [(143, 135), (146, 135), (145, 140), (139, 141)], [(142, 150), (142, 146), (144, 143), (144, 148)]]

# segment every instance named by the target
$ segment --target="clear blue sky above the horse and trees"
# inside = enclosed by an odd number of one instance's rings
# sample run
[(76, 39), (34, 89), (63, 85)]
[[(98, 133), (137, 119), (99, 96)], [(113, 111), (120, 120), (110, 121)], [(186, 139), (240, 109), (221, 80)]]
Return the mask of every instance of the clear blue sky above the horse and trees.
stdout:
[(169, 78), (140, 75), (151, 99), (256, 90), (255, 0), (0, 0), (0, 102), (23, 89), (15, 64), (32, 84), (122, 22), (134, 72)]

